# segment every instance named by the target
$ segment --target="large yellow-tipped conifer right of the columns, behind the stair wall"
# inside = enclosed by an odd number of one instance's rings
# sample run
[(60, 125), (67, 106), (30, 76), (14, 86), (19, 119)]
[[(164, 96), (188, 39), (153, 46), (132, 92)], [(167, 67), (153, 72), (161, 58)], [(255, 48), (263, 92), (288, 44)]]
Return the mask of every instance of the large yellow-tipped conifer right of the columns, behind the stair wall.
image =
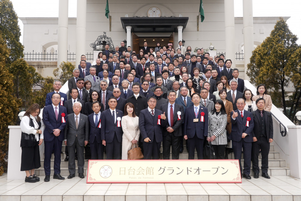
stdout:
[[(288, 71), (291, 71), (291, 68), (297, 66), (296, 63), (288, 63), (292, 58), (292, 55), (299, 48), (296, 43), (297, 39), (297, 36), (289, 30), (285, 20), (280, 17), (270, 36), (268, 36), (262, 44), (257, 46), (253, 51), (247, 70), (247, 75), (250, 77), (251, 83), (254, 83), (255, 85), (264, 83), (271, 91), (274, 90), (276, 94), (278, 92), (278, 96), (280, 95), (282, 99), (281, 102), (284, 108), (284, 114), (291, 120), (294, 116), (292, 113), (294, 109), (291, 109), (289, 113), (287, 113), (285, 87), (292, 81), (290, 77), (288, 77)], [(289, 75), (294, 76), (295, 72), (292, 71), (292, 74), (293, 75)], [(294, 94), (298, 92), (298, 89), (295, 89), (296, 91)], [(272, 100), (276, 103), (279, 102), (279, 100)], [(295, 101), (296, 99), (293, 98), (292, 102)], [(300, 103), (296, 104), (298, 105)], [(295, 107), (296, 105), (289, 106)]]

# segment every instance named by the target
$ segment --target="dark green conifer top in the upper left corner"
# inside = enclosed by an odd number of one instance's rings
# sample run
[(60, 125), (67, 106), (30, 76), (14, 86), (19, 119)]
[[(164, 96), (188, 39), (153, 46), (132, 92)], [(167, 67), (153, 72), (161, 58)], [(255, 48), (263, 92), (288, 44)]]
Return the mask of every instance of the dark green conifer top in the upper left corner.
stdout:
[(24, 47), (20, 43), (21, 32), (18, 25), (18, 16), (10, 0), (0, 1), (0, 30), (8, 49), (11, 50), (6, 63), (11, 64), (18, 58), (23, 57)]

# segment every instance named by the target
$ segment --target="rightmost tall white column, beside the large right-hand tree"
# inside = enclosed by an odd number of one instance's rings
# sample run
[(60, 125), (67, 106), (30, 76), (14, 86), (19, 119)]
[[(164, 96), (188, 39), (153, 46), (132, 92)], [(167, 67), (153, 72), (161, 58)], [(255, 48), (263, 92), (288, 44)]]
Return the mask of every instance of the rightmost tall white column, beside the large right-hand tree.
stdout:
[(253, 2), (252, 0), (243, 0), (243, 19), (244, 19), (244, 66), (245, 80), (247, 77), (247, 65), (250, 63), (250, 57), (254, 50), (254, 29), (253, 29)]

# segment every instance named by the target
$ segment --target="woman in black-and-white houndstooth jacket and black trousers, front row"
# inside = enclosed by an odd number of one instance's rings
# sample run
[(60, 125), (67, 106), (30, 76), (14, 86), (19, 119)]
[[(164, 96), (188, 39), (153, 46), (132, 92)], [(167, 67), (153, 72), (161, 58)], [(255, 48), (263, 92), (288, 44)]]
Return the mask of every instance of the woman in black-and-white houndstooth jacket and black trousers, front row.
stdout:
[(222, 100), (216, 100), (213, 111), (208, 113), (209, 129), (207, 141), (212, 143), (216, 159), (225, 159), (227, 144), (227, 114)]

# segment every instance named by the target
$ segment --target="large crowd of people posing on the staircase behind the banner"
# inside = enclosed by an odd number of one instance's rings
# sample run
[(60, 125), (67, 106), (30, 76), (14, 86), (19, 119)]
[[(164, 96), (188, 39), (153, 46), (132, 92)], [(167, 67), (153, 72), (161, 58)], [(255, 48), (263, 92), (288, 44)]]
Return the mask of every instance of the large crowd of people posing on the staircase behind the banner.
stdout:
[[(42, 119), (39, 105), (33, 104), (21, 121), (22, 162), (26, 182), (39, 181), (39, 145), (44, 141), (44, 181), (50, 181), (50, 159), (54, 153), (53, 179), (60, 172), (62, 144), (66, 145), (68, 179), (84, 178), (84, 146), (91, 159), (128, 159), (133, 144), (141, 147), (144, 159), (179, 159), (186, 140), (188, 159), (203, 159), (206, 143), (213, 146), (216, 159), (228, 159), (233, 149), (242, 177), (259, 177), (258, 156), (262, 154), (262, 176), (269, 178), (268, 152), (273, 141), (271, 97), (264, 84), (254, 96), (245, 90), (232, 61), (214, 58), (203, 49), (197, 54), (178, 42), (155, 48), (147, 46), (136, 54), (121, 42), (116, 51), (99, 52), (95, 65), (81, 56), (78, 68), (68, 80), (69, 94), (54, 91), (46, 96)], [(227, 148), (227, 149), (226, 149)], [(171, 151), (170, 151), (171, 150)], [(244, 169), (241, 167), (243, 150)], [(171, 152), (171, 154), (170, 154)], [(30, 156), (30, 157), (29, 157)], [(30, 158), (30, 159), (29, 159)]]

